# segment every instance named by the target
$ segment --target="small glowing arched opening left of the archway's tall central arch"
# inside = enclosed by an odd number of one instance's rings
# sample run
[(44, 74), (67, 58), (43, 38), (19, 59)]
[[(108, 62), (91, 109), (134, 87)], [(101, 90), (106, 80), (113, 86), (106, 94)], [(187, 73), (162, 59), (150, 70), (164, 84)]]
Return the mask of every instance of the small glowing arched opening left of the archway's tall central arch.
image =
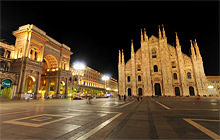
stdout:
[(24, 97), (33, 98), (35, 93), (35, 81), (36, 79), (33, 76), (28, 76), (25, 80), (24, 86)]

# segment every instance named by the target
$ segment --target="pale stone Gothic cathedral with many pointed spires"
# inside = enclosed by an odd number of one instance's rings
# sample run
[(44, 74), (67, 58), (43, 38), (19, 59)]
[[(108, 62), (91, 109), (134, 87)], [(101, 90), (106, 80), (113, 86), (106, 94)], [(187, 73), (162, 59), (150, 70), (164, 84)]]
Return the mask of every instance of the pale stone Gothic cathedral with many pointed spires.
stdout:
[(159, 37), (148, 38), (141, 30), (141, 47), (135, 52), (131, 41), (131, 58), (125, 63), (119, 50), (119, 94), (127, 96), (195, 96), (207, 95), (202, 56), (196, 40), (191, 42), (190, 56), (182, 53), (176, 33), (176, 47), (167, 43), (162, 26)]

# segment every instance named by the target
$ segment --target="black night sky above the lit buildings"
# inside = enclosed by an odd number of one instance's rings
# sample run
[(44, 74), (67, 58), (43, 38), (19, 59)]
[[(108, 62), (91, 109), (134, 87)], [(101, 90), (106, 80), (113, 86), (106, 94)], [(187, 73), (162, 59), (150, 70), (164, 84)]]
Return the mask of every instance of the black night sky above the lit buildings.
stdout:
[(164, 24), (168, 43), (178, 33), (182, 51), (189, 55), (197, 39), (207, 76), (219, 75), (219, 2), (1, 2), (1, 39), (14, 44), (12, 31), (34, 24), (71, 48), (76, 60), (117, 78), (118, 50), (130, 58), (130, 40), (140, 48), (140, 29), (158, 36)]

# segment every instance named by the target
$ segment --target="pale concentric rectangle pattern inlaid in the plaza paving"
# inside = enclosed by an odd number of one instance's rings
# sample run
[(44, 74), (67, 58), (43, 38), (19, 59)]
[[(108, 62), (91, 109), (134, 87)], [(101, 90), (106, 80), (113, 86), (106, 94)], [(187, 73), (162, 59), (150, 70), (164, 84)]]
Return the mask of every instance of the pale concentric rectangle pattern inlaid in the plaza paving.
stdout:
[(10, 124), (17, 124), (17, 125), (24, 125), (31, 127), (40, 127), (46, 124), (54, 123), (75, 116), (78, 116), (78, 114), (74, 114), (74, 116), (68, 116), (68, 117), (61, 115), (54, 115), (54, 114), (41, 114), (31, 117), (24, 117), (24, 118), (4, 121), (3, 123), (10, 123)]

